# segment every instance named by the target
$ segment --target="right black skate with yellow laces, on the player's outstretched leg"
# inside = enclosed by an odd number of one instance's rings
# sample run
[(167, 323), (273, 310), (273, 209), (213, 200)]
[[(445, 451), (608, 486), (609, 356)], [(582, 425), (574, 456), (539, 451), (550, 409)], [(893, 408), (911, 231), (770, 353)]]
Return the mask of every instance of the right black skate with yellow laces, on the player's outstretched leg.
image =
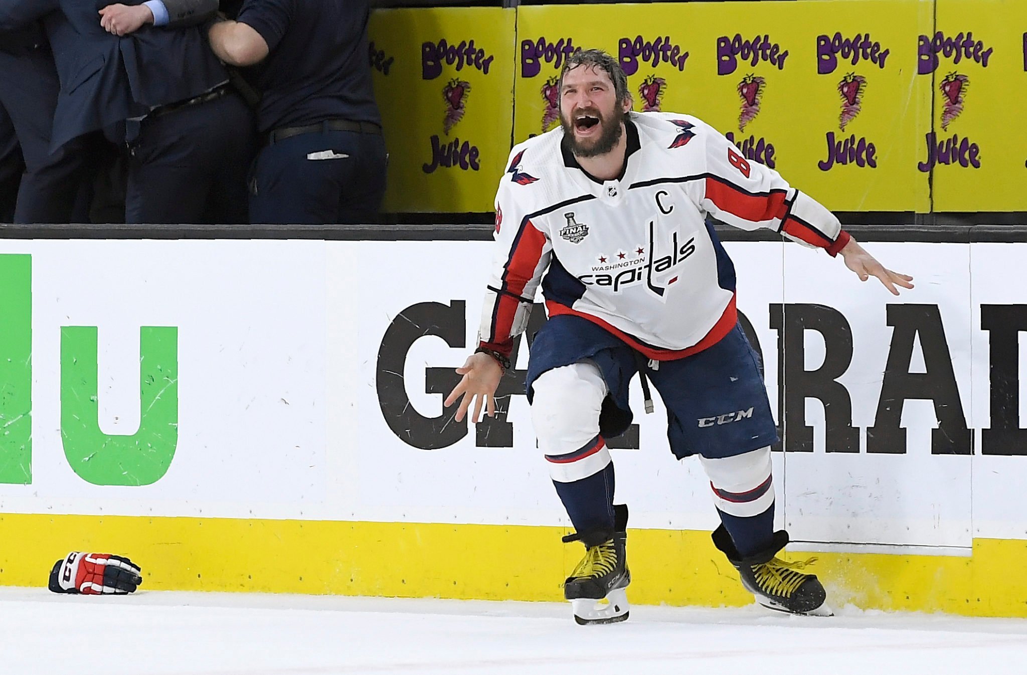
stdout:
[(745, 559), (734, 548), (734, 541), (723, 525), (714, 531), (713, 542), (738, 570), (741, 585), (764, 607), (792, 614), (834, 615), (824, 603), (827, 593), (816, 575), (799, 571), (816, 559), (785, 562), (776, 557), (777, 552), (788, 545), (788, 532), (785, 530), (774, 532), (769, 548)]

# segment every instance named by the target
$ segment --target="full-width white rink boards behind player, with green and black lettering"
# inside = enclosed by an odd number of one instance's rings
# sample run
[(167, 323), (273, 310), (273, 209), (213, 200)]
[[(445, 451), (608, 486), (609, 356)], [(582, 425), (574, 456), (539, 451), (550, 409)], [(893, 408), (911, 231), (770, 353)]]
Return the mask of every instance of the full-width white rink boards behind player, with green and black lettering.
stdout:
[[(897, 299), (822, 252), (725, 243), (774, 410), (782, 373), (773, 307), (823, 305), (851, 329), (851, 364), (838, 381), (851, 401), (860, 452), (827, 452), (823, 406), (807, 399), (812, 452), (774, 454), (778, 525), (793, 538), (941, 547), (967, 547), (974, 536), (1027, 538), (1016, 505), (1027, 457), (931, 454), (928, 401), (905, 404), (905, 453), (866, 447), (893, 333), (889, 303), (937, 307), (965, 423), (989, 424), (989, 334), (980, 306), (1027, 304), (1024, 246), (868, 245), (917, 277), (917, 289)], [(411, 409), (442, 415), (443, 395), (425, 392), (426, 370), (455, 368), (470, 352), (490, 242), (0, 241), (0, 255), (12, 253), (33, 256), (33, 476), (31, 485), (0, 484), (4, 512), (565, 524), (523, 396), (511, 397), (512, 444), (479, 447), (471, 428), (438, 449), (415, 447), (419, 440), (394, 433), (379, 401), (379, 358), (396, 355), (394, 346), (383, 350), (384, 336), (406, 322), (408, 308), (435, 303), (422, 313), (443, 325), (419, 326), (403, 372), (382, 381), (387, 388), (402, 375)], [(462, 313), (453, 309), (459, 302)], [(153, 485), (96, 486), (70, 471), (59, 430), (62, 326), (99, 328), (108, 434), (131, 434), (139, 423), (139, 327), (178, 327), (179, 444)], [(432, 331), (457, 346), (420, 337)], [(824, 340), (806, 331), (804, 344), (805, 368), (814, 370)], [(522, 348), (520, 368), (526, 359)], [(910, 372), (922, 368), (917, 345)], [(639, 449), (613, 451), (618, 499), (631, 504), (633, 527), (710, 529), (708, 482), (696, 461), (670, 454), (656, 406), (652, 415), (637, 406)]]

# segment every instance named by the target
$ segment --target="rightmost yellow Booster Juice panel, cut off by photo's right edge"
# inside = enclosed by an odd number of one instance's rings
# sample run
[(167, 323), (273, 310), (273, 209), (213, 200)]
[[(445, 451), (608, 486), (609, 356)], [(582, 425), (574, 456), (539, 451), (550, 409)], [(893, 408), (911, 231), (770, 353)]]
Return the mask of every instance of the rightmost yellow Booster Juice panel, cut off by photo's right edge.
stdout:
[(921, 137), (935, 211), (1027, 211), (1027, 2), (940, 0), (919, 36), (934, 129)]

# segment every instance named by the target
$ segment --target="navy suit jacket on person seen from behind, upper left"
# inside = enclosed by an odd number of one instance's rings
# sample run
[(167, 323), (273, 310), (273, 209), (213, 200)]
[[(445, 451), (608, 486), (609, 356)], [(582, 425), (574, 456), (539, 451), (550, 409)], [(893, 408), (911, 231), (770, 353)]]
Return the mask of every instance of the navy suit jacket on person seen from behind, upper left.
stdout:
[[(128, 0), (141, 4), (142, 0)], [(164, 0), (172, 24), (117, 37), (100, 26), (109, 0), (3, 0), (0, 31), (42, 18), (61, 78), (51, 148), (224, 83), (199, 24), (217, 0)]]

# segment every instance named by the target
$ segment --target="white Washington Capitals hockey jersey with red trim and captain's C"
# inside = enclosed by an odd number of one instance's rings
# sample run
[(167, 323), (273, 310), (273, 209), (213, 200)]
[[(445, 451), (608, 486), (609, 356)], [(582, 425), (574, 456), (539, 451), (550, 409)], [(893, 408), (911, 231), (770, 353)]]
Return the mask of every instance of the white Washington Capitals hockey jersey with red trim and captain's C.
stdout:
[(540, 283), (550, 316), (582, 316), (649, 359), (715, 344), (737, 315), (734, 267), (708, 214), (831, 255), (848, 242), (831, 212), (695, 117), (633, 113), (624, 170), (605, 182), (581, 170), (563, 136), (516, 146), (499, 182), (484, 347), (509, 354)]

